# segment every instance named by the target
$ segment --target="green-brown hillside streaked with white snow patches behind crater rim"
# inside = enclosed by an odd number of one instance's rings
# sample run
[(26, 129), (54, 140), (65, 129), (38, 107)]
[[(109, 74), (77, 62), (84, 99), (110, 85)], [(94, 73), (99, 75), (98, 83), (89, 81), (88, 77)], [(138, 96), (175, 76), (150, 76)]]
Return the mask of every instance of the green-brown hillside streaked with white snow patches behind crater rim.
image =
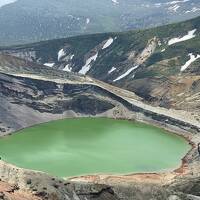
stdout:
[(1, 51), (87, 74), (133, 91), (152, 105), (189, 110), (198, 118), (199, 26), (200, 17), (144, 31), (79, 36)]

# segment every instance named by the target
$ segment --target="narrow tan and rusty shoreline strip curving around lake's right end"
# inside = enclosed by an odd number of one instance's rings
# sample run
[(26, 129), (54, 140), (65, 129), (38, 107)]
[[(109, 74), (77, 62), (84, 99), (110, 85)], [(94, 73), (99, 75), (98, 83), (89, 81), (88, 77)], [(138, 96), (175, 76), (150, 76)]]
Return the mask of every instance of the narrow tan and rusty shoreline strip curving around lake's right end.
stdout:
[[(113, 119), (113, 118), (111, 118)], [(133, 121), (131, 119), (127, 119), (127, 118), (118, 118), (117, 120), (128, 120), (128, 121)], [(137, 121), (135, 120), (134, 122), (139, 122), (139, 123), (144, 123), (144, 124), (147, 124), (147, 125), (152, 125), (154, 127), (157, 127), (157, 128), (160, 128), (160, 129), (163, 129), (165, 131), (167, 131), (166, 134), (175, 134), (179, 137), (182, 137), (184, 138), (188, 144), (191, 146), (191, 149), (187, 152), (187, 154), (181, 159), (181, 165), (177, 168), (174, 168), (174, 169), (166, 169), (166, 170), (161, 170), (160, 172), (143, 172), (143, 173), (129, 173), (129, 174), (102, 174), (102, 173), (98, 173), (98, 174), (91, 174), (91, 175), (82, 175), (82, 176), (75, 176), (75, 177), (70, 177), (70, 178), (67, 178), (66, 180), (70, 180), (70, 181), (74, 181), (74, 182), (87, 182), (87, 183), (91, 183), (91, 182), (98, 182), (99, 184), (105, 184), (105, 182), (103, 180), (106, 180), (106, 179), (109, 179), (109, 178), (112, 178), (112, 179), (115, 179), (115, 178), (119, 178), (120, 179), (124, 179), (126, 177), (130, 177), (131, 179), (135, 179), (135, 177), (138, 177), (138, 176), (141, 176), (143, 177), (142, 179), (142, 182), (144, 181), (145, 182), (145, 179), (147, 178), (148, 179), (148, 182), (150, 181), (150, 179), (152, 178), (152, 181), (154, 179), (154, 176), (160, 176), (161, 178), (163, 176), (171, 176), (171, 181), (176, 177), (176, 176), (180, 176), (180, 175), (186, 175), (189, 170), (189, 162), (188, 162), (188, 159), (190, 160), (190, 155), (193, 153), (193, 151), (196, 150), (196, 143), (194, 141), (192, 141), (192, 138), (194, 137), (194, 134), (191, 133), (191, 132), (185, 132), (185, 131), (181, 131), (181, 130), (177, 130), (177, 129), (174, 129), (172, 127), (163, 127), (163, 125), (161, 124), (158, 124), (158, 123), (149, 123), (147, 121)], [(189, 134), (189, 135), (186, 135), (186, 134)], [(92, 180), (92, 181), (90, 181)], [(168, 180), (169, 181), (169, 180)], [(126, 182), (126, 181), (125, 181)], [(125, 183), (124, 182), (124, 183)], [(107, 183), (107, 182), (106, 182)], [(108, 183), (107, 183), (108, 184)], [(114, 183), (112, 183), (114, 184)]]

